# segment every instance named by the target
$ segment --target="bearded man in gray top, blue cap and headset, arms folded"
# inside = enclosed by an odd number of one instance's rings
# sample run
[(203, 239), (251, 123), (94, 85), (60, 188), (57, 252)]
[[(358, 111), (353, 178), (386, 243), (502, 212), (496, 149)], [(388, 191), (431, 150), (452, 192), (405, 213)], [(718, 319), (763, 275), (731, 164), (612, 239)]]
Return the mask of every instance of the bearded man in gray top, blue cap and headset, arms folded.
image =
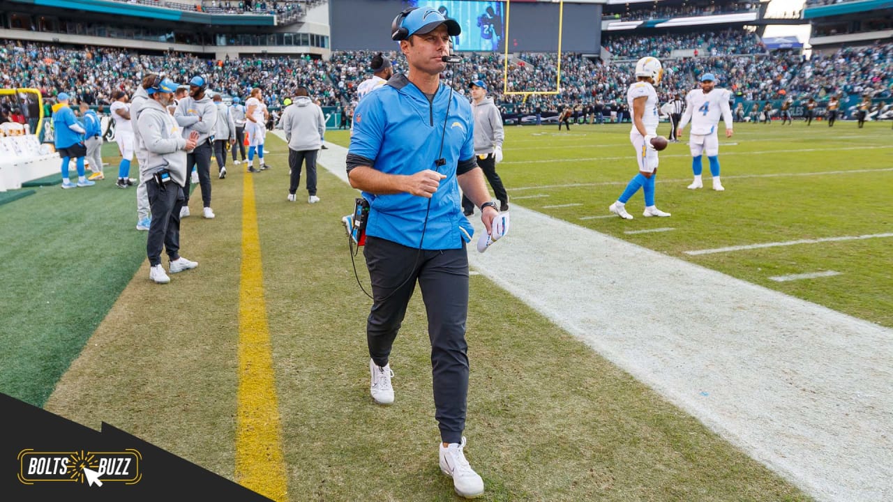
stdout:
[[(198, 146), (187, 158), (188, 171), (196, 166), (198, 185), (202, 188), (202, 205), (204, 217), (213, 218), (211, 210), (211, 154), (213, 153), (213, 135), (217, 125), (217, 105), (207, 96), (208, 82), (202, 76), (189, 80), (189, 96), (179, 100), (177, 110), (173, 113), (177, 123), (183, 126), (183, 138), (188, 138), (192, 131), (198, 132)], [(183, 203), (182, 217), (189, 215), (189, 190), (186, 190), (186, 202)]]

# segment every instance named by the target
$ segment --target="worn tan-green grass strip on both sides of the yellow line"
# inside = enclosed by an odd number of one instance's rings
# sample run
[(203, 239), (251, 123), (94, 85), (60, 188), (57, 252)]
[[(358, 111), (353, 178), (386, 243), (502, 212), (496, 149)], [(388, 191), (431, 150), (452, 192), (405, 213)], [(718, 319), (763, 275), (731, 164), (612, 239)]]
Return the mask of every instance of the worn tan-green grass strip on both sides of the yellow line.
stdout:
[[(268, 145), (273, 169), (255, 175), (255, 197), (288, 499), (455, 499), (437, 466), (419, 295), (396, 341), (397, 402), (373, 406), (370, 300), (339, 222), (355, 190), (321, 171), (321, 203), (288, 203), (285, 147)], [(120, 273), (133, 280), (47, 409), (93, 427), (112, 423), (233, 477), (242, 171), (213, 180), (215, 220), (184, 222), (182, 251), (198, 269), (163, 287), (146, 279), (145, 262), (135, 276)], [(487, 482), (483, 499), (808, 499), (487, 279), (472, 277), (471, 300), (467, 452)]]

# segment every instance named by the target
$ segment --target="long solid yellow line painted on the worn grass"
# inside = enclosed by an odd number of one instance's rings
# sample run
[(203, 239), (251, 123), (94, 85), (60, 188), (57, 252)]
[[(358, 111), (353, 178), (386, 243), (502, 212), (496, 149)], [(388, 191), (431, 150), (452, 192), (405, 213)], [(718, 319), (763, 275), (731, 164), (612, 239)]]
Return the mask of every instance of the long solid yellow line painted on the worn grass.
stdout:
[(244, 176), (242, 270), (238, 306), (238, 410), (236, 481), (273, 500), (287, 498), (279, 399), (276, 397), (270, 328), (263, 297), (263, 263), (257, 232), (255, 185)]

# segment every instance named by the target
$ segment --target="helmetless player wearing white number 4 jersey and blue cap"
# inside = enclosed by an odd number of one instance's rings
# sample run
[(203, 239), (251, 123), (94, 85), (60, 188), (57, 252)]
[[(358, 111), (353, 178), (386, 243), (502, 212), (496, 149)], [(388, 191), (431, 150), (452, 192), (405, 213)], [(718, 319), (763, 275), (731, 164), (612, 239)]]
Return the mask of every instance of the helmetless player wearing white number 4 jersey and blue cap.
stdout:
[(714, 177), (714, 190), (722, 191), (720, 182), (720, 140), (716, 135), (716, 127), (722, 121), (726, 123), (726, 138), (731, 138), (731, 108), (729, 106), (729, 91), (723, 88), (714, 88), (716, 77), (713, 73), (705, 73), (701, 77), (701, 88), (692, 89), (685, 96), (685, 113), (676, 129), (676, 137), (679, 138), (686, 124), (691, 121), (691, 171), (695, 173), (695, 180), (689, 188), (703, 188), (701, 182), (701, 155), (707, 154), (710, 161), (710, 174)]

